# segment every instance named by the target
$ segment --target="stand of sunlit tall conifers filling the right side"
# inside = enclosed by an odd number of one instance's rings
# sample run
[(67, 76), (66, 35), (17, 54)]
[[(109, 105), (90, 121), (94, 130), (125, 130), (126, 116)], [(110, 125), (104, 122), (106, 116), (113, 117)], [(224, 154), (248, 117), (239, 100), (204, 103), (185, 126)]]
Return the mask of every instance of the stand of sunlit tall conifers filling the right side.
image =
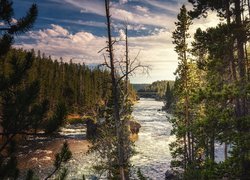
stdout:
[[(171, 105), (172, 168), (183, 179), (249, 179), (249, 1), (189, 2), (193, 10), (182, 6), (173, 32), (179, 66)], [(189, 47), (192, 19), (208, 10), (224, 23), (197, 29)], [(217, 145), (224, 146), (222, 162), (216, 161)]]

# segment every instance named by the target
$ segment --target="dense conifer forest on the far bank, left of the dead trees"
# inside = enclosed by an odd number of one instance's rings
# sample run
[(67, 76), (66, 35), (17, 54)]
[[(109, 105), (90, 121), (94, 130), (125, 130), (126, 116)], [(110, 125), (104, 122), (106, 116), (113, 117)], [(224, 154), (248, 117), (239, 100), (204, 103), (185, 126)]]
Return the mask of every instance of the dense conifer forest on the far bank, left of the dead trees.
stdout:
[[(12, 50), (25, 56), (23, 50)], [(40, 99), (48, 99), (50, 108), (58, 102), (66, 104), (69, 113), (97, 115), (106, 105), (111, 94), (110, 77), (107, 70), (90, 68), (83, 64), (52, 60), (38, 51), (25, 83), (39, 81)]]

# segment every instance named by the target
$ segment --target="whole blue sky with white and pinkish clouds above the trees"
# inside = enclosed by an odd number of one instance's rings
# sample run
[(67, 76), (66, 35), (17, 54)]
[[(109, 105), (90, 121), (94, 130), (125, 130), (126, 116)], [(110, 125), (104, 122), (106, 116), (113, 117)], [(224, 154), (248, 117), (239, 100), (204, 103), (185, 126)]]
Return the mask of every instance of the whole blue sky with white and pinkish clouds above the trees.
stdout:
[[(25, 15), (32, 3), (38, 5), (39, 15), (31, 31), (16, 38), (15, 46), (40, 50), (53, 59), (63, 58), (90, 66), (104, 62), (106, 19), (104, 0), (13, 0), (15, 19)], [(130, 59), (150, 66), (149, 74), (138, 71), (130, 77), (132, 83), (152, 83), (174, 80), (178, 65), (172, 44), (177, 14), (187, 0), (111, 0), (112, 33), (123, 40), (128, 25)], [(195, 20), (190, 33), (215, 26), (218, 18)], [(1, 24), (0, 24), (1, 25)], [(124, 41), (115, 45), (115, 58), (124, 58)]]

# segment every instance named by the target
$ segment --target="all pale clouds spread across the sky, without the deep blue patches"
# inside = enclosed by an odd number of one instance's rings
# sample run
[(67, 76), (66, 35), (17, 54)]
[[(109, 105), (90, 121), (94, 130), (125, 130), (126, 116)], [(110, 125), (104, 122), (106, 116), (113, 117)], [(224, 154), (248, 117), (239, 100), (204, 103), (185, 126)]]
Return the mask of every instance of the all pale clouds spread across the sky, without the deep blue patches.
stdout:
[[(51, 1), (67, 3), (81, 13), (93, 13), (105, 16), (103, 0)], [(175, 78), (173, 72), (177, 67), (178, 60), (177, 54), (174, 51), (174, 45), (172, 44), (172, 32), (175, 29), (174, 22), (177, 21), (176, 16), (179, 13), (181, 3), (156, 0), (136, 0), (135, 2), (143, 3), (140, 5), (130, 5), (130, 1), (116, 1), (116, 3), (112, 3), (111, 14), (115, 34), (117, 34), (116, 38), (125, 38), (124, 31), (122, 30), (124, 28), (122, 21), (127, 21), (129, 34), (133, 35), (129, 37), (131, 59), (140, 51), (139, 59), (142, 63), (152, 65), (151, 77), (145, 81), (150, 82), (157, 79), (173, 80)], [(155, 9), (159, 11), (154, 12), (153, 10)], [(51, 55), (54, 58), (63, 57), (67, 61), (74, 59), (74, 62), (77, 63), (103, 63), (103, 56), (98, 51), (106, 46), (107, 39), (105, 36), (82, 29), (75, 30), (72, 33), (68, 28), (56, 23), (68, 23), (72, 24), (72, 26), (74, 24), (93, 26), (96, 27), (97, 31), (103, 32), (106, 26), (105, 21), (97, 22), (94, 18), (90, 18), (87, 21), (44, 19), (51, 20), (53, 24), (44, 30), (31, 31), (21, 36), (17, 40), (18, 44), (16, 47), (24, 49), (35, 48), (35, 50), (41, 50), (41, 52)], [(194, 20), (193, 25), (190, 27), (190, 34), (192, 35), (198, 27), (205, 30), (208, 27), (215, 26), (218, 22), (216, 14), (209, 12), (208, 18)], [(131, 30), (137, 32), (131, 33)], [(115, 50), (116, 58), (119, 59), (124, 56), (124, 42), (116, 44)], [(142, 79), (145, 79), (145, 75), (143, 77), (137, 75), (132, 78), (132, 82), (141, 82)]]

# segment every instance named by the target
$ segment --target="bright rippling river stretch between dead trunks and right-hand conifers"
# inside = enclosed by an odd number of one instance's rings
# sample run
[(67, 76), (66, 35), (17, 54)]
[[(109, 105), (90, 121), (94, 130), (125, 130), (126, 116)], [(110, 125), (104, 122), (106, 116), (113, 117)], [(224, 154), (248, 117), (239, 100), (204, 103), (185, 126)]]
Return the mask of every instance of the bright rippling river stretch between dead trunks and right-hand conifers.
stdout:
[[(170, 167), (171, 155), (169, 143), (174, 140), (170, 136), (170, 114), (161, 111), (163, 102), (142, 98), (134, 106), (133, 116), (141, 124), (135, 148), (138, 152), (132, 158), (135, 167), (150, 179), (164, 179)], [(168, 118), (167, 118), (168, 117)]]

